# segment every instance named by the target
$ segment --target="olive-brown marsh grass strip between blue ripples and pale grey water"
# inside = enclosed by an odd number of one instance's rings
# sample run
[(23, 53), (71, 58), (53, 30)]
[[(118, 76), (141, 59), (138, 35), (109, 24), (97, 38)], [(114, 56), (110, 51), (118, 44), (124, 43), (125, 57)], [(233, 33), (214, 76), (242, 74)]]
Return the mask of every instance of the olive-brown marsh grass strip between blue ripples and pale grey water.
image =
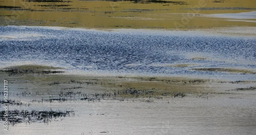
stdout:
[[(61, 68), (22, 65), (13, 66), (9, 69), (22, 71), (22, 74), (24, 74), (24, 76), (18, 76), (14, 80), (10, 80), (10, 83), (35, 85), (29, 89), (19, 89), (18, 93), (14, 94), (19, 97), (35, 97), (31, 99), (33, 100), (32, 102), (100, 102), (100, 100), (122, 100), (123, 98), (184, 98), (193, 93), (212, 93), (212, 89), (214, 89), (205, 87), (212, 83), (206, 79), (124, 76), (87, 77), (61, 74), (34, 77), (30, 76), (30, 74)], [(5, 70), (9, 69), (6, 68)], [(43, 89), (35, 91), (34, 89), (37, 86)]]

